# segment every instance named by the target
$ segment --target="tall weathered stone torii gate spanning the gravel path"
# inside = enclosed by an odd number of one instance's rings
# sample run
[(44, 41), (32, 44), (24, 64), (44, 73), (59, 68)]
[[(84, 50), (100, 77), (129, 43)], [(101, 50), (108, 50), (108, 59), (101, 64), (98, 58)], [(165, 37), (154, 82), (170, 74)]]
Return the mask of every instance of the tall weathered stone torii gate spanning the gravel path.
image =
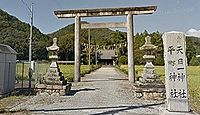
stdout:
[[(128, 77), (130, 82), (135, 82), (135, 65), (133, 51), (133, 15), (152, 14), (156, 6), (125, 7), (125, 8), (99, 8), (79, 10), (57, 10), (54, 14), (58, 18), (75, 18), (75, 82), (80, 82), (80, 29), (81, 28), (111, 28), (127, 27), (128, 41)], [(126, 15), (127, 22), (90, 23), (81, 24), (81, 17), (120, 16)]]

